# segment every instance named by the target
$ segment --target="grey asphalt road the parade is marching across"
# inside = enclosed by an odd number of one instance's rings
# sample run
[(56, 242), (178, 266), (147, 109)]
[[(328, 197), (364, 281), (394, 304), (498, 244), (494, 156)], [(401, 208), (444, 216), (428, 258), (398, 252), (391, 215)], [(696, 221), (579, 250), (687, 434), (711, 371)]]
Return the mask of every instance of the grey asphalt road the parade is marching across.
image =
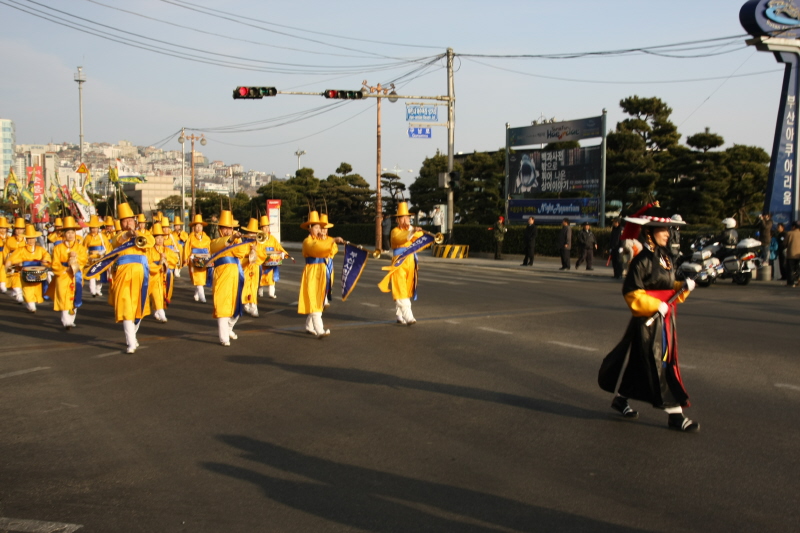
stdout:
[(67, 333), (0, 296), (0, 531), (798, 530), (800, 289), (681, 306), (690, 435), (598, 388), (629, 318), (606, 273), (428, 260), (406, 327), (386, 264), (322, 340), (284, 266), (229, 348), (186, 277), (133, 355), (105, 301)]

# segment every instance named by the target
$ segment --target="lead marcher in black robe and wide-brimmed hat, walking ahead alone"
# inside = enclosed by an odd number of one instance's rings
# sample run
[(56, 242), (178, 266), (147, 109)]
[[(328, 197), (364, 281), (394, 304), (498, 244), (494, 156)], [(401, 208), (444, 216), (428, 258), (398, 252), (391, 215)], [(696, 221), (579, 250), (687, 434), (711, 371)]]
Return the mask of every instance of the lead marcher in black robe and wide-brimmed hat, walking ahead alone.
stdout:
[(694, 281), (675, 281), (675, 268), (667, 248), (670, 220), (666, 211), (652, 207), (638, 218), (644, 248), (631, 261), (622, 294), (633, 316), (622, 341), (603, 359), (598, 384), (615, 393), (611, 407), (623, 417), (638, 418), (628, 399), (648, 402), (668, 414), (667, 427), (683, 432), (700, 430), (686, 418), (683, 407), (689, 395), (678, 367), (678, 332), (675, 307), (694, 289)]

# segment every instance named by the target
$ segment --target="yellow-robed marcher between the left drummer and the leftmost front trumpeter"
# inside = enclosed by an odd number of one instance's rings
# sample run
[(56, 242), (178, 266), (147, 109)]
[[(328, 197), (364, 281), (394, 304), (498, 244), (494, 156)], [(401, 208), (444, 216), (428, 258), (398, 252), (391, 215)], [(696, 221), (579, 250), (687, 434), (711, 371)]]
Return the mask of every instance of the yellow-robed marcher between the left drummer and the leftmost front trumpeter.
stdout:
[(47, 290), (53, 311), (61, 312), (61, 325), (67, 331), (75, 327), (78, 307), (83, 303), (83, 267), (89, 260), (86, 248), (76, 237), (79, 229), (74, 218), (64, 217), (63, 239), (53, 248), (53, 280)]

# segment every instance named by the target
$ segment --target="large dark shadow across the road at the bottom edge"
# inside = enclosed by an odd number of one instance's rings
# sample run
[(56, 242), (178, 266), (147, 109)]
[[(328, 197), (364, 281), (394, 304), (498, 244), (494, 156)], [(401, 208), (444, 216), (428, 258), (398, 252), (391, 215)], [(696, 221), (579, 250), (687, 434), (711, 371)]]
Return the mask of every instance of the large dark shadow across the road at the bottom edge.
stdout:
[(217, 439), (241, 457), (303, 476), (290, 480), (222, 463), (201, 465), (253, 483), (267, 498), (361, 531), (613, 531), (631, 529), (508, 498), (337, 463), (241, 435)]

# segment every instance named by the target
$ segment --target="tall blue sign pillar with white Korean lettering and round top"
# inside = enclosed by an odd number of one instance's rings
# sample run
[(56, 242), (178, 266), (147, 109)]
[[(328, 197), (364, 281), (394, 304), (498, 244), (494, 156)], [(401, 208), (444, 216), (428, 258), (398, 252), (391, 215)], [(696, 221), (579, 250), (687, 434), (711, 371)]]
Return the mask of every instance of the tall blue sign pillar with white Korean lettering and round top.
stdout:
[(795, 0), (749, 0), (739, 11), (739, 21), (754, 38), (747, 41), (762, 52), (773, 52), (786, 65), (781, 90), (781, 109), (775, 126), (772, 159), (764, 199), (764, 212), (775, 223), (798, 219), (798, 114), (800, 94), (800, 9)]

